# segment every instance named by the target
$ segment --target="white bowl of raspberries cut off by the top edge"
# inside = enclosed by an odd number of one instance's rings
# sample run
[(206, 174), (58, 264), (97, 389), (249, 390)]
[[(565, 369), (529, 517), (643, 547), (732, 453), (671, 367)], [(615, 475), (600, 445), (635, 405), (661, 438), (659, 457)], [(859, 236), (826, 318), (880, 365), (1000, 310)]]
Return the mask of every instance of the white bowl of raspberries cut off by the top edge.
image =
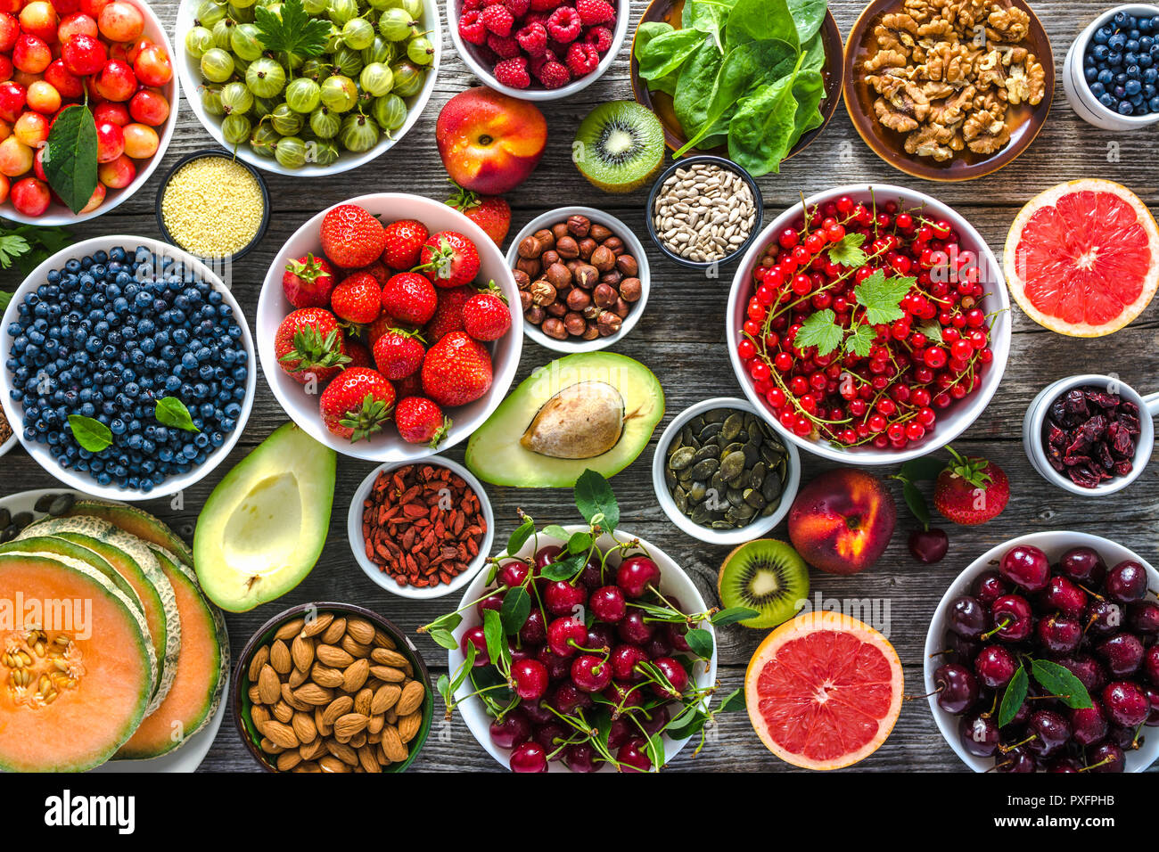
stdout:
[(628, 34), (626, 0), (447, 0), (454, 49), (493, 89), (557, 101), (611, 67)]

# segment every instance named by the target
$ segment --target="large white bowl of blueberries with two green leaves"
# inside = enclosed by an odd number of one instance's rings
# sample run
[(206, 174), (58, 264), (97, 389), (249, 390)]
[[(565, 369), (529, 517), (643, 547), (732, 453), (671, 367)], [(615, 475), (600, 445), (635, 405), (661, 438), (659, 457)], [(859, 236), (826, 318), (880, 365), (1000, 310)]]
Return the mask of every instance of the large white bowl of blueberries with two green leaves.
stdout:
[(100, 236), (32, 270), (0, 322), (0, 400), (65, 485), (114, 500), (188, 488), (238, 442), (254, 341), (225, 283), (144, 236)]

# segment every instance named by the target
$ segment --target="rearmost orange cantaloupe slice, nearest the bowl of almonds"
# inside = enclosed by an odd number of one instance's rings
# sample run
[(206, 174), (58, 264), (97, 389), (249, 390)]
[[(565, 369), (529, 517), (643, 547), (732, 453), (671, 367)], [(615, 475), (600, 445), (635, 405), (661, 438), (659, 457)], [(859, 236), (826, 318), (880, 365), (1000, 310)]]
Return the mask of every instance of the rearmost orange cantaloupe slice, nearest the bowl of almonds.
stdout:
[(177, 595), (177, 677), (165, 701), (141, 721), (116, 759), (158, 757), (188, 742), (217, 713), (229, 671), (229, 640), (221, 611), (202, 596), (192, 568), (162, 547), (153, 546), (153, 552)]

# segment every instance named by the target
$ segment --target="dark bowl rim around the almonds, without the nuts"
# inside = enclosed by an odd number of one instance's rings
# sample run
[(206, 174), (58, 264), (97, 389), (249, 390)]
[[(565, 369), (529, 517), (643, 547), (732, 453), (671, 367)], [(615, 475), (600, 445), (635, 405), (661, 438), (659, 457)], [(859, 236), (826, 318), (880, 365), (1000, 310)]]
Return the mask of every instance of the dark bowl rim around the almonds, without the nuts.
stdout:
[(427, 742), (427, 735), (430, 734), (431, 720), (435, 716), (435, 692), (431, 689), (430, 672), (427, 671), (427, 664), (423, 663), (422, 656), (402, 631), (400, 631), (392, 621), (388, 621), (379, 616), (377, 612), (371, 612), (370, 610), (356, 606), (355, 604), (322, 602), (292, 606), (284, 612), (279, 612), (277, 616), (262, 625), (250, 640), (246, 642), (246, 647), (242, 649), (241, 656), (238, 658), (238, 665), (234, 669), (233, 678), (229, 680), (229, 705), (233, 707), (233, 721), (238, 727), (238, 734), (241, 736), (241, 741), (246, 743), (246, 748), (249, 749), (249, 753), (253, 755), (258, 766), (267, 772), (278, 771), (277, 766), (270, 759), (270, 756), (262, 751), (258, 747), (262, 735), (254, 727), (254, 721), (249, 715), (249, 709), (253, 707), (253, 704), (249, 700), (249, 687), (253, 685), (249, 680), (249, 662), (253, 660), (254, 653), (260, 646), (272, 641), (274, 634), (278, 627), (284, 625), (286, 621), (298, 618), (299, 616), (305, 616), (307, 612), (335, 612), (342, 616), (357, 616), (366, 619), (394, 640), (399, 653), (404, 655), (414, 667), (415, 679), (427, 687), (427, 697), (423, 699), (422, 707), (422, 727), (418, 728), (418, 733), (415, 735), (414, 740), (407, 743), (407, 748), (410, 751), (409, 757), (407, 757), (407, 759), (402, 763), (392, 764), (384, 770), (384, 772), (403, 772), (411, 763), (414, 763), (418, 752), (422, 751), (423, 743)]

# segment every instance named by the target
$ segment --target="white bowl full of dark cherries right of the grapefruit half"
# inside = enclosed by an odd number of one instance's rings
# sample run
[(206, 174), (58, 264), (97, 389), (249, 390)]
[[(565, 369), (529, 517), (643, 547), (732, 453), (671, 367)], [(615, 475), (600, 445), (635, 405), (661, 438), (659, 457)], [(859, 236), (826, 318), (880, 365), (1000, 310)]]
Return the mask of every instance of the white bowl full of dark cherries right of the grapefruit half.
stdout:
[(1036, 532), (955, 580), (926, 635), (934, 721), (977, 772), (1142, 772), (1159, 756), (1159, 573)]

